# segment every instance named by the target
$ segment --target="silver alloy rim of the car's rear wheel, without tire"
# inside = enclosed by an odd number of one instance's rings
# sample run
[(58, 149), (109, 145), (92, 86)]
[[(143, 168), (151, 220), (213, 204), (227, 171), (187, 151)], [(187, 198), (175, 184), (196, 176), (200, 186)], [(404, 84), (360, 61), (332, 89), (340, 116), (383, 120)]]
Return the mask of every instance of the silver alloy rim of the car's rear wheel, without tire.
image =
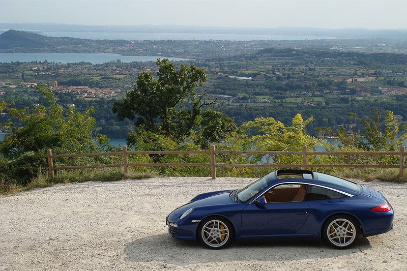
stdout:
[(338, 247), (345, 247), (355, 240), (356, 228), (355, 225), (344, 218), (338, 218), (332, 221), (327, 228), (327, 236), (329, 241)]

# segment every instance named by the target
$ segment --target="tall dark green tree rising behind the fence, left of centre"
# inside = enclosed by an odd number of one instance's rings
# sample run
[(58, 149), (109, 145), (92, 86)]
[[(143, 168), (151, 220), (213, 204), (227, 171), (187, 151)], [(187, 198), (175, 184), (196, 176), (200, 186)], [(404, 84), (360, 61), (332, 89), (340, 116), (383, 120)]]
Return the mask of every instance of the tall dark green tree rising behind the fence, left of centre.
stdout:
[[(159, 67), (157, 77), (151, 72), (140, 73), (134, 90), (126, 93), (122, 101), (113, 103), (112, 111), (118, 114), (120, 121), (137, 118), (135, 125), (143, 130), (165, 135), (176, 143), (192, 136), (201, 145), (208, 140), (218, 142), (226, 132), (236, 129), (231, 118), (202, 109), (216, 103), (216, 99), (205, 99), (205, 91), (199, 95), (195, 92), (207, 79), (203, 69), (184, 64), (176, 68), (168, 59), (157, 59), (156, 64)], [(205, 129), (216, 124), (222, 131)], [(131, 138), (134, 136), (130, 135), (128, 140)]]

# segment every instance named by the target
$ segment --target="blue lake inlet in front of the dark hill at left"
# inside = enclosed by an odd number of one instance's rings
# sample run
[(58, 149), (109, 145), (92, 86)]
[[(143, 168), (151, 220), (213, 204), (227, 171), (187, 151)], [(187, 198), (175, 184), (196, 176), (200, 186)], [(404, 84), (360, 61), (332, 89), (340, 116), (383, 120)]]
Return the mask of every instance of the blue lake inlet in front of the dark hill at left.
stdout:
[(0, 62), (31, 62), (45, 61), (55, 63), (90, 62), (102, 64), (120, 59), (122, 62), (148, 62), (157, 61), (157, 58), (168, 58), (171, 61), (188, 61), (188, 58), (152, 55), (120, 55), (114, 53), (0, 53)]

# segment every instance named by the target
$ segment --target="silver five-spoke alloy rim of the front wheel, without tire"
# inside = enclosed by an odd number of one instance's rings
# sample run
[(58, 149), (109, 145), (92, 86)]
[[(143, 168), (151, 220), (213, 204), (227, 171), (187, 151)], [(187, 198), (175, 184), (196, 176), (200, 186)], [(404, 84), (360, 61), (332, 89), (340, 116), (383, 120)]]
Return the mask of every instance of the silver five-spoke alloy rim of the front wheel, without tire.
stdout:
[(203, 225), (201, 236), (205, 244), (212, 248), (219, 248), (229, 239), (229, 229), (220, 220), (210, 220)]

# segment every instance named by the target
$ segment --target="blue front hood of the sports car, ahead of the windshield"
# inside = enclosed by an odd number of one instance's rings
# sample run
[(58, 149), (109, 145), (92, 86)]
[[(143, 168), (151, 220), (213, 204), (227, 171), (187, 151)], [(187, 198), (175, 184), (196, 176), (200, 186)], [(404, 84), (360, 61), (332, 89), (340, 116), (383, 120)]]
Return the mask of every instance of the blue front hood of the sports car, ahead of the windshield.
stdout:
[(175, 209), (174, 213), (178, 215), (184, 213), (186, 210), (193, 207), (236, 203), (235, 201), (230, 199), (229, 197), (230, 191), (231, 190), (223, 190), (199, 194), (187, 204)]

